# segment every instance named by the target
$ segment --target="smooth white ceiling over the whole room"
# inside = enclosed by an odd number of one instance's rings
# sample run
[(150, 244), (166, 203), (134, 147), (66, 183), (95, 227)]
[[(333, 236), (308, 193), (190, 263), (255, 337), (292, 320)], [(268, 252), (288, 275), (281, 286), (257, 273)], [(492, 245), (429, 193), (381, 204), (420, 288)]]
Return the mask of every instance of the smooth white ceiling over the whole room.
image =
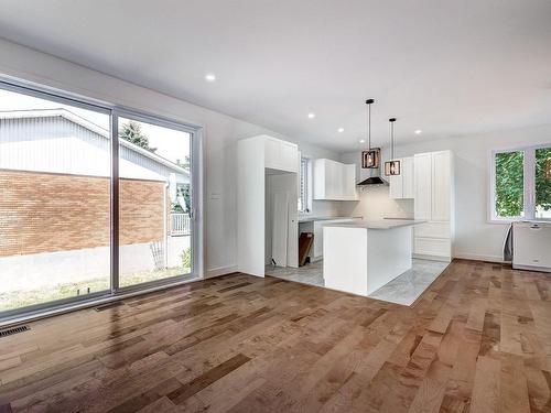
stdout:
[(549, 0), (2, 0), (0, 36), (341, 151), (368, 97), (375, 144), (551, 123)]

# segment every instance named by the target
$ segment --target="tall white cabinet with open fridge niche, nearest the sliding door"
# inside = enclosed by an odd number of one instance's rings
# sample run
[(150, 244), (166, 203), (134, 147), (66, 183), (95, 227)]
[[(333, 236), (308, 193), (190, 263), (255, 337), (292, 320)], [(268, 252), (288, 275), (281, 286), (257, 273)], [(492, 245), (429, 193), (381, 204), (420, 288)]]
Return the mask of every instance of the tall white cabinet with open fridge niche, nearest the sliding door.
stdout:
[(237, 142), (237, 269), (299, 267), (296, 144), (269, 135)]

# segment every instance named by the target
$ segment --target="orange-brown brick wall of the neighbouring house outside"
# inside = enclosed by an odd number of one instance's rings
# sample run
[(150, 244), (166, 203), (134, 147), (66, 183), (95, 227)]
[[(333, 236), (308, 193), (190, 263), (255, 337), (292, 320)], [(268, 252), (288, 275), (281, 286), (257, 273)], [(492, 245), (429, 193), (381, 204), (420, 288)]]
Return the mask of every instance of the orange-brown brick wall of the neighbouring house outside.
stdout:
[[(120, 242), (162, 240), (164, 183), (119, 188)], [(108, 244), (108, 178), (0, 171), (0, 257)]]

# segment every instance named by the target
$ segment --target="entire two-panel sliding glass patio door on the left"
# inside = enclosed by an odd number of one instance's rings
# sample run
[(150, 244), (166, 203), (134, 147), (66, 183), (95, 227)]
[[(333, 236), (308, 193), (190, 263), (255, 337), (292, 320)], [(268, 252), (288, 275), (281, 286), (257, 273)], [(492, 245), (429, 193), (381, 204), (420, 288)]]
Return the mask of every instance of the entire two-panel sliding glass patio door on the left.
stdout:
[(194, 137), (0, 80), (0, 323), (195, 278)]

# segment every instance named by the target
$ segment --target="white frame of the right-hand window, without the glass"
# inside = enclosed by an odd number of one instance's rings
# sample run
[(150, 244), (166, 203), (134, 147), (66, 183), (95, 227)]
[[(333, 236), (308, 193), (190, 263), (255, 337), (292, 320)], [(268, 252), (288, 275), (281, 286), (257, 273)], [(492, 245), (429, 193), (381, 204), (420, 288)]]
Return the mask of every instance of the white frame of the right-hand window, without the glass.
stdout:
[[(488, 222), (490, 224), (511, 224), (523, 220), (544, 220), (550, 221), (551, 218), (536, 218), (536, 150), (551, 148), (551, 142), (539, 143), (532, 145), (511, 146), (503, 149), (494, 149), (489, 154), (489, 197), (488, 197)], [(525, 216), (522, 217), (499, 217), (496, 215), (496, 154), (509, 152), (523, 152), (523, 207)]]

